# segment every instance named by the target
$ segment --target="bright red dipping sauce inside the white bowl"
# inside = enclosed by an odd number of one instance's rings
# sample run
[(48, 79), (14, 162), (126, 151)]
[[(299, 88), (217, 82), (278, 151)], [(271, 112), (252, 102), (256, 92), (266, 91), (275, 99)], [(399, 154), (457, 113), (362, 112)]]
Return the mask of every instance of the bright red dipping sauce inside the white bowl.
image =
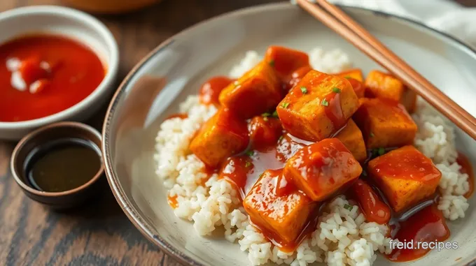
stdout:
[(0, 45), (0, 121), (26, 121), (66, 110), (102, 82), (105, 66), (82, 43), (35, 34)]

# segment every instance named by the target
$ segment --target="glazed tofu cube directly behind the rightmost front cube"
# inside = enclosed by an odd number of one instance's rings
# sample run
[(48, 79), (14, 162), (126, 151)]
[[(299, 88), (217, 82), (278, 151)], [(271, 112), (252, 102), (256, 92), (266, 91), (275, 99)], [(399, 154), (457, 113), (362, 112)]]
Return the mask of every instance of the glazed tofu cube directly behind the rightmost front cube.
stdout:
[(353, 121), (362, 131), (367, 149), (410, 145), (416, 124), (400, 103), (379, 98), (361, 98)]

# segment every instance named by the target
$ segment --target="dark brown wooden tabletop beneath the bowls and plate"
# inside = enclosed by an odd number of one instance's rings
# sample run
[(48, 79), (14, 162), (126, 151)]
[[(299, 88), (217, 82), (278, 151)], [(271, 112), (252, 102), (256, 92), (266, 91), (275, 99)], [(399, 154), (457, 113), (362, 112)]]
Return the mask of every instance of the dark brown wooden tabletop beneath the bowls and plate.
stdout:
[[(177, 32), (209, 17), (270, 2), (276, 0), (164, 0), (134, 13), (97, 17), (118, 41), (120, 82), (142, 57)], [(458, 2), (476, 6), (476, 0)], [(60, 1), (0, 0), (0, 12), (37, 4)], [(88, 123), (101, 128), (105, 110)], [(0, 265), (179, 265), (134, 228), (107, 186), (97, 202), (67, 213), (29, 200), (10, 175), (13, 147), (13, 142), (0, 141)]]

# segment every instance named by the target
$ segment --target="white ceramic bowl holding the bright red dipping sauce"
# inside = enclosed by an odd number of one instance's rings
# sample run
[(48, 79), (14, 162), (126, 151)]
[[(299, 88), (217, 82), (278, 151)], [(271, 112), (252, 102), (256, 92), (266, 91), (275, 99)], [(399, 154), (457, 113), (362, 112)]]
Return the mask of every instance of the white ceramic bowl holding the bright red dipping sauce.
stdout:
[(0, 43), (38, 31), (60, 34), (87, 45), (107, 67), (106, 76), (83, 101), (62, 112), (29, 121), (0, 121), (0, 139), (19, 140), (35, 128), (56, 121), (84, 121), (113, 91), (119, 64), (118, 44), (102, 22), (81, 11), (59, 6), (30, 6), (0, 13)]

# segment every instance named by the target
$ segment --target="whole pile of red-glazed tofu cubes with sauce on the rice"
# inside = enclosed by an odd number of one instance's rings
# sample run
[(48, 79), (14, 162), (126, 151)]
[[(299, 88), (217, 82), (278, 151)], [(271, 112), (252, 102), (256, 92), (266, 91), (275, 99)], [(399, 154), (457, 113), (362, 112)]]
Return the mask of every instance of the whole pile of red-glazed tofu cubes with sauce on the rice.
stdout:
[[(253, 226), (283, 251), (293, 251), (316, 227), (321, 207), (340, 195), (356, 202), (366, 221), (391, 228), (392, 237), (443, 241), (449, 230), (436, 207), (441, 173), (412, 146), (417, 128), (408, 92), (391, 75), (321, 73), (304, 52), (272, 46), (237, 80), (204, 83), (200, 101), (218, 112), (189, 148), (235, 186)], [(426, 252), (396, 250), (388, 258)]]

